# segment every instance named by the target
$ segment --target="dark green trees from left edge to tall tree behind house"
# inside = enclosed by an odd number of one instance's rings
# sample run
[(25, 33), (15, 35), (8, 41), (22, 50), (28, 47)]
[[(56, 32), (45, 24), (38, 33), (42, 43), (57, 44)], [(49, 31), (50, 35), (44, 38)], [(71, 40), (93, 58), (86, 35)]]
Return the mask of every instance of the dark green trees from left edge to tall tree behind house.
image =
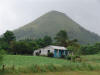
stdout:
[(7, 51), (9, 54), (33, 54), (33, 51), (38, 48), (43, 48), (52, 44), (52, 38), (45, 36), (36, 40), (25, 39), (16, 41), (13, 32), (7, 31), (0, 38), (0, 48)]

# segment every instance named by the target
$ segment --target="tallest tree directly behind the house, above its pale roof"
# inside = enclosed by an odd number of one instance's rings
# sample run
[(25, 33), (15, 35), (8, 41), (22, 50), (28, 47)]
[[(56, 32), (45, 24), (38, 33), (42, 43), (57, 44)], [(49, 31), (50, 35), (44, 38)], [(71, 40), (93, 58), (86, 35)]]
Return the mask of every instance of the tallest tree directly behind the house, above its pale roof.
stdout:
[(68, 40), (68, 35), (65, 30), (61, 30), (57, 33), (55, 37), (57, 45), (65, 46), (67, 45), (66, 40)]

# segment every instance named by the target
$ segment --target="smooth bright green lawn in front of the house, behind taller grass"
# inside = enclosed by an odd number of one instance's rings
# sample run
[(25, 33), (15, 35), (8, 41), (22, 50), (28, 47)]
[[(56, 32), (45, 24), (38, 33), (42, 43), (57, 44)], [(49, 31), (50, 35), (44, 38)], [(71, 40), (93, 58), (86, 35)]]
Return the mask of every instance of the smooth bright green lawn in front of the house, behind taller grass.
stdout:
[(54, 64), (54, 65), (62, 65), (70, 63), (64, 59), (56, 59), (56, 58), (48, 58), (48, 57), (39, 57), (39, 56), (21, 56), (21, 55), (6, 55), (4, 57), (4, 64), (11, 66), (16, 65), (19, 66), (30, 66), (33, 64), (37, 65), (45, 65), (45, 64)]

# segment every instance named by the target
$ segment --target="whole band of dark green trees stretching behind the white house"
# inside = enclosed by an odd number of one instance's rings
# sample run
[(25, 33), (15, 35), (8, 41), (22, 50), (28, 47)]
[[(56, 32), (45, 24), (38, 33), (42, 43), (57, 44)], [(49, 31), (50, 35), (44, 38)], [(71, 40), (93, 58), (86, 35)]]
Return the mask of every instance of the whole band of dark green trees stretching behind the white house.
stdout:
[(16, 41), (16, 37), (12, 31), (6, 31), (0, 38), (0, 51), (4, 50), (8, 54), (32, 55), (34, 50), (48, 45), (64, 46), (68, 48), (68, 50), (73, 51), (76, 55), (89, 55), (100, 52), (100, 43), (94, 45), (80, 45), (77, 39), (70, 40), (65, 30), (59, 31), (54, 38), (46, 35), (39, 39), (33, 40), (27, 38), (25, 40)]

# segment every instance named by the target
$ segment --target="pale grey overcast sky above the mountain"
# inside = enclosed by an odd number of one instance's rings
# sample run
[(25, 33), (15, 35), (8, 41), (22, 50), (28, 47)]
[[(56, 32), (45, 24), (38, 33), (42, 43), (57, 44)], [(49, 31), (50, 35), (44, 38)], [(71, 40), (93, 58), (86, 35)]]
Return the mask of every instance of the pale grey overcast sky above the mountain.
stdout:
[(66, 13), (81, 26), (100, 35), (100, 0), (0, 0), (0, 34), (51, 10)]

